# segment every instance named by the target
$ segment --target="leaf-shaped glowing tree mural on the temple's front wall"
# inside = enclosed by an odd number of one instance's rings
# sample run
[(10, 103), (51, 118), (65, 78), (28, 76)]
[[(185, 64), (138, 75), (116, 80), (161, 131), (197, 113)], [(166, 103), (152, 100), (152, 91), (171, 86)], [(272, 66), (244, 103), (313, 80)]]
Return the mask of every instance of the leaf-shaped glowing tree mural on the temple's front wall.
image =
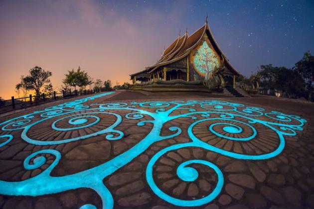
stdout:
[(193, 66), (199, 75), (205, 77), (205, 80), (210, 78), (210, 73), (219, 67), (219, 60), (215, 52), (208, 46), (206, 41), (194, 54)]

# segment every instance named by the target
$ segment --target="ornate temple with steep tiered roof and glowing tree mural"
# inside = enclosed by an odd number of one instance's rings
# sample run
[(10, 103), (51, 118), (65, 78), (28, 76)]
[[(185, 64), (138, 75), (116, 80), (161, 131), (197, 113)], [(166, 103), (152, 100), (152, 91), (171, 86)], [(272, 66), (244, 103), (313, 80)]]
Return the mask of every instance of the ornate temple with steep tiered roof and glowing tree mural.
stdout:
[(186, 86), (185, 89), (202, 86), (208, 91), (216, 91), (234, 87), (240, 73), (219, 48), (206, 17), (205, 24), (193, 34), (188, 35), (186, 30), (183, 36), (179, 35), (156, 64), (130, 76), (137, 86), (135, 90), (152, 89), (148, 86), (156, 89), (159, 85), (171, 91), (173, 85), (180, 85)]

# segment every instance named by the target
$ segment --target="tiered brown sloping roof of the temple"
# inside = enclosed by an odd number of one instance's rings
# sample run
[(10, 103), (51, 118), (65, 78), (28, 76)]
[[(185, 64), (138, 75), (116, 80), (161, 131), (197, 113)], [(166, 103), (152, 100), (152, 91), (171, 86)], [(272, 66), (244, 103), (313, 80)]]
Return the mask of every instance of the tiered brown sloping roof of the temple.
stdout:
[(207, 20), (205, 24), (196, 30), (192, 35), (188, 36), (187, 31), (185, 31), (182, 37), (177, 37), (164, 51), (161, 55), (161, 58), (157, 61), (156, 64), (146, 67), (145, 70), (140, 71), (138, 73), (131, 74), (130, 76), (135, 76), (139, 73), (147, 71), (151, 73), (155, 71), (158, 67), (176, 62), (186, 56), (189, 55), (192, 49), (194, 49), (197, 44), (201, 41), (204, 34), (207, 34), (210, 42), (212, 43), (213, 47), (219, 54), (219, 56), (224, 61), (225, 66), (233, 71), (235, 74), (240, 75), (240, 73), (234, 69), (234, 67), (229, 63), (228, 58), (223, 54), (221, 49), (219, 48), (217, 42), (215, 41), (212, 32), (209, 28)]

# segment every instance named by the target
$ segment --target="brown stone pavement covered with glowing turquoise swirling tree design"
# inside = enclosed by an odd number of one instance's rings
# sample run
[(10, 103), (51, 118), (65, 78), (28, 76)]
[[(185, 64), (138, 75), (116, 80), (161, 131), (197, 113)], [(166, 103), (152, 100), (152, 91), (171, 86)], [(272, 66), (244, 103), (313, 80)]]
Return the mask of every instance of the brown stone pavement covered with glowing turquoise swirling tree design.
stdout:
[(123, 94), (1, 117), (0, 208), (314, 208), (313, 104)]

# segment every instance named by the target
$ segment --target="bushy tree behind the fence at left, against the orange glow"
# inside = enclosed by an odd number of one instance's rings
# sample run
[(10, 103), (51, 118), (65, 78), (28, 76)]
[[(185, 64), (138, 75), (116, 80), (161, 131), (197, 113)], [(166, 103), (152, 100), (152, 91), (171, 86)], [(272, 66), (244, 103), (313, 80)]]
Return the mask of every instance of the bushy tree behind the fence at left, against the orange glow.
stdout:
[(25, 88), (27, 90), (34, 90), (37, 98), (40, 96), (40, 90), (45, 84), (50, 83), (49, 77), (52, 73), (45, 71), (41, 67), (35, 66), (29, 70), (29, 75), (23, 78)]

